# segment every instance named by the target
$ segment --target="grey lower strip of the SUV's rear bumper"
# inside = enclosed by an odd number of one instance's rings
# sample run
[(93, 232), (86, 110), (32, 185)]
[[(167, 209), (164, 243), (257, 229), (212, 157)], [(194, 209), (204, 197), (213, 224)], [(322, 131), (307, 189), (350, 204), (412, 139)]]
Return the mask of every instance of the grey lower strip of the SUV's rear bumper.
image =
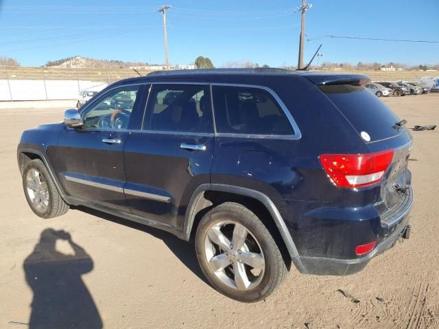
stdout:
[(357, 259), (334, 259), (323, 257), (300, 257), (302, 263), (302, 273), (315, 274), (320, 276), (347, 276), (357, 273), (368, 265), (370, 260), (393, 247), (396, 241), (403, 236), (409, 223), (409, 213), (405, 213), (400, 219), (397, 229), (392, 232), (385, 240), (381, 241), (369, 254)]

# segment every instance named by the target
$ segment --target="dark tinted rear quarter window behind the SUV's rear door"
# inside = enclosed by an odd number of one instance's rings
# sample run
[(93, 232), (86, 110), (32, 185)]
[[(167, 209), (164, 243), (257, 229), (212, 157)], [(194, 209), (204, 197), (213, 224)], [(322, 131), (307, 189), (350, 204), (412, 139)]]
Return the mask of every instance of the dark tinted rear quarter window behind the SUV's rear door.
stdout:
[(292, 135), (293, 129), (276, 99), (267, 90), (213, 86), (217, 132)]

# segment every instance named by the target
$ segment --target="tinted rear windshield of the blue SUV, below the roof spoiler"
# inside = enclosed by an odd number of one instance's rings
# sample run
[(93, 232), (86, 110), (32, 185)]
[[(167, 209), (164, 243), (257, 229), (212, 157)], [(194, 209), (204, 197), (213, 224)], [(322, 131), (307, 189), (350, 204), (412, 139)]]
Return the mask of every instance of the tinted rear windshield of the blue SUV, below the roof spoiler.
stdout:
[(370, 141), (398, 136), (405, 127), (395, 128), (400, 120), (375, 95), (363, 86), (323, 85), (320, 90), (337, 106), (359, 134), (366, 132)]

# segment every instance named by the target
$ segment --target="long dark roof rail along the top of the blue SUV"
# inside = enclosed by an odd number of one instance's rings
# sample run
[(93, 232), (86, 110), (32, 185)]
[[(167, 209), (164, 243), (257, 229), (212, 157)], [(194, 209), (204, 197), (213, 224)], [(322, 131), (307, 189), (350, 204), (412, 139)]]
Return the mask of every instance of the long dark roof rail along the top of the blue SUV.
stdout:
[(258, 67), (254, 69), (194, 69), (194, 70), (171, 70), (154, 71), (147, 75), (184, 75), (184, 74), (212, 74), (212, 73), (254, 73), (254, 74), (294, 74), (294, 71), (287, 69)]

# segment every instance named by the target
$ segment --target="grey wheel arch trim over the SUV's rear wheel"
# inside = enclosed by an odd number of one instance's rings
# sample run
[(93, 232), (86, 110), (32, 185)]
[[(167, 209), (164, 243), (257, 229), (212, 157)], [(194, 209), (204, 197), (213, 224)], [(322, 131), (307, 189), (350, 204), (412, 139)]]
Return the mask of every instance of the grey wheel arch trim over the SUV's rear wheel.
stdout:
[[(193, 192), (193, 195), (189, 201), (189, 206), (185, 215), (185, 221), (183, 223), (183, 237), (185, 240), (189, 241), (191, 239), (191, 234), (193, 234), (194, 229), (197, 225), (197, 215), (202, 214), (209, 210), (213, 204), (209, 197), (206, 197), (206, 193), (230, 193), (233, 195), (241, 196), (246, 199), (253, 199), (263, 206), (263, 208), (268, 212), (272, 221), (276, 224), (276, 231), (278, 232), (287, 253), (293, 260), (294, 265), (299, 269), (302, 269), (302, 264), (300, 262), (299, 254), (292, 239), (291, 234), (289, 234), (288, 228), (283, 221), (283, 218), (272, 202), (272, 200), (265, 194), (254, 191), (250, 188), (244, 188), (241, 186), (232, 186), (226, 184), (202, 184), (198, 186)], [(230, 201), (230, 200), (229, 200)]]

